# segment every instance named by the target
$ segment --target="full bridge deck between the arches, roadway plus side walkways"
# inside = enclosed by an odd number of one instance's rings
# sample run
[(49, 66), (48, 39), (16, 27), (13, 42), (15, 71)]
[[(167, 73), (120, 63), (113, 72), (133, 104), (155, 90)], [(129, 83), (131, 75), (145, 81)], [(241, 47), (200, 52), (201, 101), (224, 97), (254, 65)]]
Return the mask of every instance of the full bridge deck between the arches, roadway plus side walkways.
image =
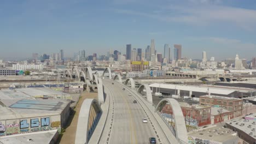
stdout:
[[(164, 130), (136, 93), (109, 79), (103, 79), (103, 85), (111, 93), (107, 94), (110, 97), (109, 115), (99, 143), (149, 143), (149, 137), (155, 137), (157, 143), (170, 143), (170, 138), (166, 137)], [(129, 96), (130, 93), (132, 96)], [(137, 103), (133, 103), (134, 100)], [(143, 123), (143, 118), (147, 118), (148, 123)]]

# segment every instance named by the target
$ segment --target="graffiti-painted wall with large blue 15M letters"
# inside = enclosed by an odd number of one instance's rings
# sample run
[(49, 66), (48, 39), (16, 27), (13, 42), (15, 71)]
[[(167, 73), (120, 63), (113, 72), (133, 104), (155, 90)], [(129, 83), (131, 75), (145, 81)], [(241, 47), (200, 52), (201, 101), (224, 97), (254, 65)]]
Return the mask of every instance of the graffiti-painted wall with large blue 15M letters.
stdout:
[(60, 130), (60, 126), (60, 116), (14, 119), (5, 122), (1, 121), (0, 136), (52, 129)]

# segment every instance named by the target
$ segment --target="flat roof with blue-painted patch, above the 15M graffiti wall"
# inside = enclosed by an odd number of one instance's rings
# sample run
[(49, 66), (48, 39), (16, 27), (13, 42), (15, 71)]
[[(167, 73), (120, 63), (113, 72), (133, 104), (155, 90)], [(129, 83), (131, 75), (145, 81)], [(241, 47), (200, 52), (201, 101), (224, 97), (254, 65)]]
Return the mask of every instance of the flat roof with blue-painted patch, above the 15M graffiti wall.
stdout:
[(69, 104), (67, 100), (0, 100), (5, 106), (0, 107), (1, 119), (17, 119), (60, 115)]

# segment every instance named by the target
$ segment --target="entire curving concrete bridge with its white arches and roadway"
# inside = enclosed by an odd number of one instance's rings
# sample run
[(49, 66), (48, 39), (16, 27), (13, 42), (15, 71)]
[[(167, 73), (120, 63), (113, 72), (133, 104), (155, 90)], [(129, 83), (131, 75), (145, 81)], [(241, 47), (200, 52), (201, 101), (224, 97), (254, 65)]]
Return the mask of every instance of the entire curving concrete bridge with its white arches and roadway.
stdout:
[[(108, 75), (106, 75), (108, 73)], [(129, 78), (112, 77), (110, 68), (102, 75), (92, 74), (91, 68), (65, 71), (67, 79), (83, 81), (97, 88), (97, 99), (86, 99), (81, 107), (75, 143), (188, 143), (187, 129), (181, 107), (174, 99), (162, 99), (153, 106), (152, 92), (147, 84), (135, 88)], [(83, 78), (82, 78), (83, 77)], [(131, 94), (131, 96), (129, 96)], [(137, 103), (133, 103), (136, 100)], [(173, 108), (173, 127), (162, 114), (165, 104)], [(147, 123), (142, 119), (146, 118)]]

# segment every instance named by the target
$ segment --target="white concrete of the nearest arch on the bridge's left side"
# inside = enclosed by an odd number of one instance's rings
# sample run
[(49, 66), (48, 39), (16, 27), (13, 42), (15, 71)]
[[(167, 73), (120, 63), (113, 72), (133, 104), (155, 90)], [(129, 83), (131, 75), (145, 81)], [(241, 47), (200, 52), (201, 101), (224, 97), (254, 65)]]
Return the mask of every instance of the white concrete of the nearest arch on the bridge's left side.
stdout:
[[(95, 99), (85, 99), (78, 117), (77, 133), (75, 134), (75, 144), (84, 144), (89, 141), (89, 122), (90, 122), (90, 110), (94, 106), (97, 116), (101, 115), (102, 110), (98, 101)], [(97, 117), (94, 119), (98, 121)], [(92, 126), (92, 127), (96, 127)]]

